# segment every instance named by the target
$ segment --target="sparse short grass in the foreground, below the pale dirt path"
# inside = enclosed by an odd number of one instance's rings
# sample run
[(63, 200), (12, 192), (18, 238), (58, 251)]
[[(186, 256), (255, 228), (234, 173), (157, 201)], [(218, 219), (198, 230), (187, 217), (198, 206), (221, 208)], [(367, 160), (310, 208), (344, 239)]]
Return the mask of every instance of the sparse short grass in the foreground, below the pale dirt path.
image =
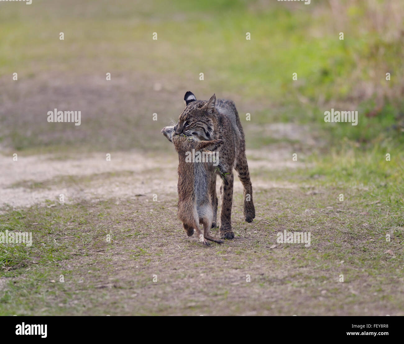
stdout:
[[(261, 172), (255, 180), (265, 179)], [(3, 230), (32, 231), (34, 244), (2, 247), (0, 314), (404, 314), (396, 283), (403, 278), (401, 191), (352, 182), (359, 175), (335, 183), (332, 172), (316, 173), (288, 175), (297, 189), (256, 190), (252, 224), (240, 218), (242, 195), (235, 194), (236, 239), (207, 249), (185, 237), (174, 200), (110, 199), (3, 214)], [(311, 246), (277, 243), (284, 230), (310, 232)]]

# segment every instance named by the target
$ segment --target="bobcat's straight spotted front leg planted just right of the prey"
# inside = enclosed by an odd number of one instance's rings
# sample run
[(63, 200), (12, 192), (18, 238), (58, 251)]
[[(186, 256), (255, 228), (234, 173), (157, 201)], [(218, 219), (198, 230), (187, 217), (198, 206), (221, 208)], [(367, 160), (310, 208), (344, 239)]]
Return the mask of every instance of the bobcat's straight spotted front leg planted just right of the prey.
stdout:
[(222, 184), (220, 186), (220, 196), (222, 208), (220, 211), (220, 237), (222, 239), (233, 239), (234, 233), (231, 231), (231, 205), (233, 204), (233, 172), (221, 174)]

